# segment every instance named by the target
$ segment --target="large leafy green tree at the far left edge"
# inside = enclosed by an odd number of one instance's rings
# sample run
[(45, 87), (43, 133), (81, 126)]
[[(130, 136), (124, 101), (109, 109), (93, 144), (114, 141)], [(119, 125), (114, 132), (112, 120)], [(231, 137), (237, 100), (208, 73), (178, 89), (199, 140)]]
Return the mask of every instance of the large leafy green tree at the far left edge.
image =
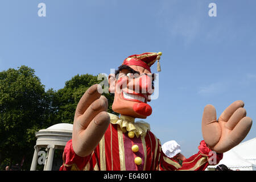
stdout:
[(44, 85), (35, 71), (22, 66), (0, 72), (0, 154), (2, 159), (20, 163), (30, 156), (35, 131), (46, 119), (48, 104)]

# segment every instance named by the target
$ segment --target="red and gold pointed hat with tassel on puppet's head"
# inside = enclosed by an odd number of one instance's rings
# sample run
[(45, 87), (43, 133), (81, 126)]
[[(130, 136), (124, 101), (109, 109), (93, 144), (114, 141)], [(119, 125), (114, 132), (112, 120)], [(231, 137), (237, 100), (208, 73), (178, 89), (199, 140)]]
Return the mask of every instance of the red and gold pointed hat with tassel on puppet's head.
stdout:
[(128, 66), (137, 65), (147, 69), (151, 73), (151, 70), (150, 70), (151, 65), (153, 65), (155, 61), (158, 60), (158, 72), (160, 72), (161, 68), (160, 68), (159, 59), (161, 55), (162, 55), (162, 52), (158, 52), (158, 53), (145, 52), (140, 55), (131, 55), (123, 61), (123, 64)]

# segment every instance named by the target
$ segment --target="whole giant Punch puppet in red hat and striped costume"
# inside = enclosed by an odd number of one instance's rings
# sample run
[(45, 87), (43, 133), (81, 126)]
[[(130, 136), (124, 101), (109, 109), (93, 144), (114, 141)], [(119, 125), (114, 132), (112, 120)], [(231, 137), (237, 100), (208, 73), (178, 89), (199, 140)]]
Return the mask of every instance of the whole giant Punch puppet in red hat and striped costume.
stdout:
[(150, 125), (134, 121), (152, 113), (148, 102), (154, 91), (154, 74), (150, 67), (157, 61), (160, 71), (161, 55), (147, 52), (129, 56), (115, 75), (109, 75), (109, 90), (114, 92), (112, 109), (119, 117), (106, 112), (108, 100), (98, 92), (99, 85), (84, 93), (76, 108), (72, 139), (65, 146), (60, 170), (204, 170), (214, 160), (218, 163), (223, 152), (246, 137), (252, 120), (246, 117), (242, 101), (233, 102), (218, 119), (214, 106), (207, 105), (199, 152), (185, 159), (182, 166), (168, 158)]

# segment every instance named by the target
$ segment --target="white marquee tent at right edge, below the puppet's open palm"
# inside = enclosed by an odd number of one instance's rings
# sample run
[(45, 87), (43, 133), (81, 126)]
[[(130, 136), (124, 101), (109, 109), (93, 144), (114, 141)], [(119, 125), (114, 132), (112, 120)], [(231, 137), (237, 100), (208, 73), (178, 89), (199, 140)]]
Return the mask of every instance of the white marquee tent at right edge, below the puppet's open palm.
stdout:
[[(223, 154), (223, 159), (219, 164), (225, 164), (232, 170), (256, 171), (256, 138), (238, 144), (228, 152)], [(207, 170), (212, 170), (216, 166), (208, 166)]]

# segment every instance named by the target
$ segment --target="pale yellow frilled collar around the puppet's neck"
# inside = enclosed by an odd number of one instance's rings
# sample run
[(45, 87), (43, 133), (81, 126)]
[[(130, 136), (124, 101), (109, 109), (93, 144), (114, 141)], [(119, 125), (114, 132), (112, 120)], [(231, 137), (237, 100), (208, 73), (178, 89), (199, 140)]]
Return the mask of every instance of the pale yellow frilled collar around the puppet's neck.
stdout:
[(139, 137), (140, 135), (142, 137), (146, 136), (147, 130), (150, 130), (150, 124), (144, 121), (137, 121), (134, 122), (133, 117), (129, 117), (127, 115), (121, 115), (120, 118), (115, 115), (108, 113), (110, 116), (110, 123), (117, 124), (121, 127), (123, 133), (126, 131), (133, 131), (136, 137)]

